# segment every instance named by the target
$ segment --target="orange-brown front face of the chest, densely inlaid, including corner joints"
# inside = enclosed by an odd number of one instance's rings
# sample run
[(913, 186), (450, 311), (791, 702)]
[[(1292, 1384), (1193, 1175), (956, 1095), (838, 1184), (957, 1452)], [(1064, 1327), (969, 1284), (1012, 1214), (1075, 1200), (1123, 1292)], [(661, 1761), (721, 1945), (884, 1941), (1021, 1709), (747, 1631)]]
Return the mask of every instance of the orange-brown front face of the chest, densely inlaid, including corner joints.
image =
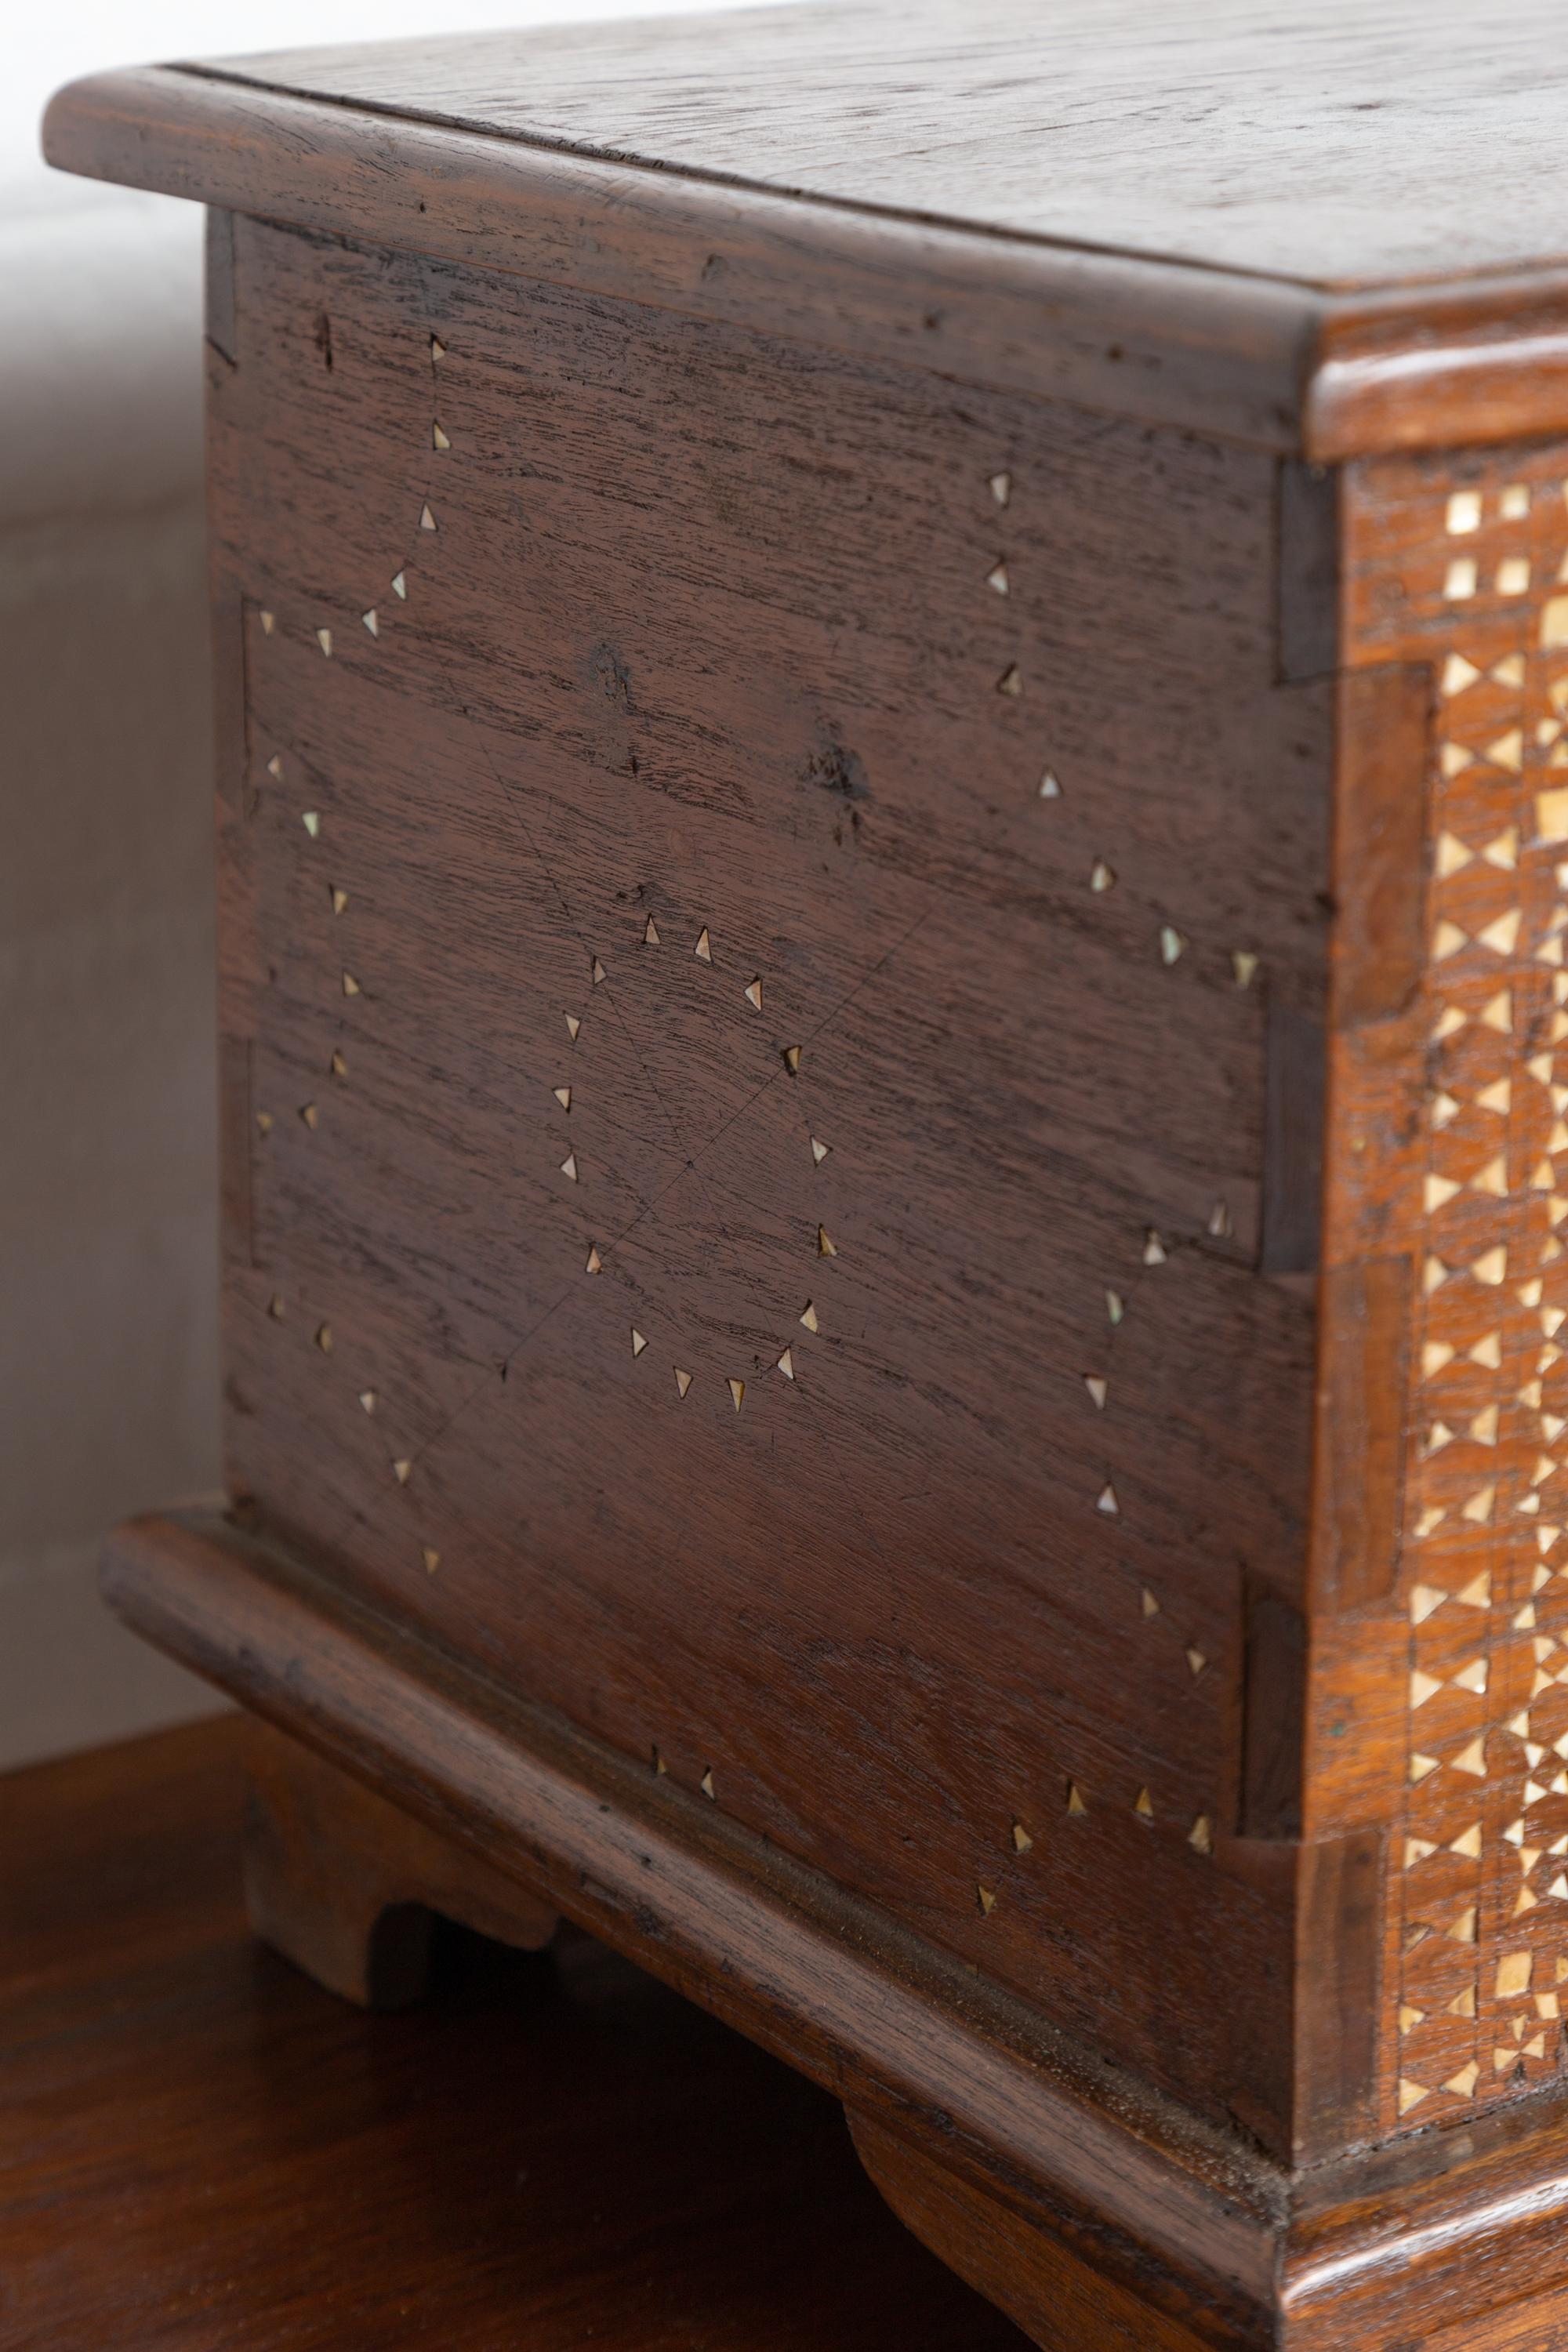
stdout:
[(1361, 463), (1345, 553), (1349, 691), (1418, 727), (1335, 993), (1326, 1345), (1385, 1404), (1338, 1399), (1361, 1543), (1314, 1597), (1307, 1816), (1385, 1842), (1392, 2131), (1563, 2070), (1568, 445)]

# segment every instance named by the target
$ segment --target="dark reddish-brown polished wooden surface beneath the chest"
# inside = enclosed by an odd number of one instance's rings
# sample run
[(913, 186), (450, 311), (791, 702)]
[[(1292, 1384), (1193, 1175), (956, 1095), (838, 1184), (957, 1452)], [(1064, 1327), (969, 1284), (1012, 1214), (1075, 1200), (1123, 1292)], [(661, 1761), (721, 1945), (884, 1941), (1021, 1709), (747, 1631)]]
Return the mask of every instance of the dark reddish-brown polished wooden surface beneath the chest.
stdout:
[(585, 1938), (360, 2016), (237, 1823), (223, 1719), (0, 1778), (5, 2352), (1020, 2352), (750, 2044)]

